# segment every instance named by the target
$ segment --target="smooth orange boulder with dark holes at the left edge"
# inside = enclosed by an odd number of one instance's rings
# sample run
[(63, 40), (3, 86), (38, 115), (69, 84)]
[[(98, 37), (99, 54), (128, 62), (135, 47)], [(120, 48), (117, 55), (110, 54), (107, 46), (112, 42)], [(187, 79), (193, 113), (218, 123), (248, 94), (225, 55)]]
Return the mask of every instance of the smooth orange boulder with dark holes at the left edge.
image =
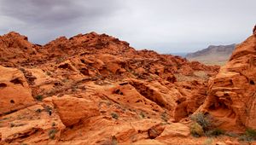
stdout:
[(0, 66), (0, 76), (0, 115), (15, 112), (34, 103), (32, 90), (20, 70)]

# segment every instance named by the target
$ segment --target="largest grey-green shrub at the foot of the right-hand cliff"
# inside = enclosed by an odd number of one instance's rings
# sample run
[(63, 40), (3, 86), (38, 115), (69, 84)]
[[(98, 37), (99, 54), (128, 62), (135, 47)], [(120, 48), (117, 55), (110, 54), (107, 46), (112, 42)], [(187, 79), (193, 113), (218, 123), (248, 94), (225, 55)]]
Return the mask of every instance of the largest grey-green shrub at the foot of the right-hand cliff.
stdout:
[(191, 120), (195, 121), (197, 124), (201, 125), (203, 131), (208, 131), (212, 128), (212, 117), (204, 113), (196, 113), (190, 117)]

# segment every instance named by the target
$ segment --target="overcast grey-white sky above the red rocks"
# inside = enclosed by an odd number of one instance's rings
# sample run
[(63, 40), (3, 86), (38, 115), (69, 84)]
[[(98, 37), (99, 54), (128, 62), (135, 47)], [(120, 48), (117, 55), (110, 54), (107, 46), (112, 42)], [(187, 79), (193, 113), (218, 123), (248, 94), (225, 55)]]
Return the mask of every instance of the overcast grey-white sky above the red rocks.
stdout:
[(0, 35), (32, 43), (107, 33), (137, 49), (193, 52), (252, 34), (256, 0), (0, 0)]

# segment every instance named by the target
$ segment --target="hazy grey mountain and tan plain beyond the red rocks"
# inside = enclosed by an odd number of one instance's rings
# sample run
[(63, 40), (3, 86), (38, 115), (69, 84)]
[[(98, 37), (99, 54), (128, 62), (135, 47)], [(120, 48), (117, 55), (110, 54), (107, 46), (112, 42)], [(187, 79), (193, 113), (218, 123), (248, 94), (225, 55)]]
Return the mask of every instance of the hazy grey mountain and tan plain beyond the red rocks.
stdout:
[(236, 44), (210, 45), (207, 49), (201, 49), (195, 53), (189, 53), (185, 57), (189, 61), (200, 61), (208, 65), (224, 65), (229, 60)]

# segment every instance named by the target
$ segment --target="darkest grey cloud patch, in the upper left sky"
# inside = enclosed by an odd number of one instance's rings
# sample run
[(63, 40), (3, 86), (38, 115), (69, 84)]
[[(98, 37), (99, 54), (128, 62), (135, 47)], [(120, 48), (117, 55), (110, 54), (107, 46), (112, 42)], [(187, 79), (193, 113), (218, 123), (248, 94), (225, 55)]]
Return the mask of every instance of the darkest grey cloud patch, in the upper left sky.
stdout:
[[(39, 26), (68, 25), (73, 20), (94, 20), (108, 15), (117, 3), (97, 4), (94, 0), (3, 0), (1, 13)], [(108, 7), (110, 6), (110, 7)]]

